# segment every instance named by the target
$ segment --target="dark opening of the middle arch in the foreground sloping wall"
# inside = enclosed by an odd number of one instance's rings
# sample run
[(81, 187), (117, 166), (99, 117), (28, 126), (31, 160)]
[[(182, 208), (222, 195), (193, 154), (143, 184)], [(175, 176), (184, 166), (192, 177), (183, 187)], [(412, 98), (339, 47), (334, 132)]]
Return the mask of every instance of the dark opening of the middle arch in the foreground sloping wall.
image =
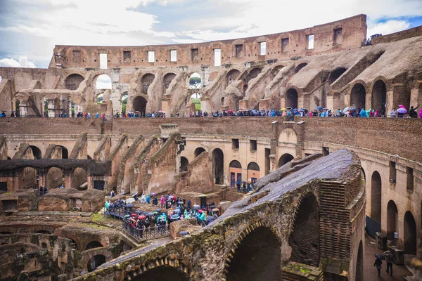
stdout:
[(255, 228), (243, 238), (231, 258), (227, 281), (281, 281), (281, 243), (266, 227)]

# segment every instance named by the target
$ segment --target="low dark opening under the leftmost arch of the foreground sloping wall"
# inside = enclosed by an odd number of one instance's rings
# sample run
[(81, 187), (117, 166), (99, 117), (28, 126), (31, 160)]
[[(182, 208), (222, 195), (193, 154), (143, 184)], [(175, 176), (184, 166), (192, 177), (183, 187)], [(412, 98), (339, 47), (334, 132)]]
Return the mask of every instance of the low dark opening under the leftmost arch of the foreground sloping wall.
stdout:
[[(156, 263), (148, 263), (148, 265), (139, 268), (136, 271), (128, 273), (132, 281), (188, 281), (190, 278), (188, 276), (192, 275), (191, 270), (179, 261), (172, 261), (167, 259), (161, 259), (156, 261)], [(165, 263), (167, 262), (167, 263)], [(163, 265), (163, 263), (165, 263)]]

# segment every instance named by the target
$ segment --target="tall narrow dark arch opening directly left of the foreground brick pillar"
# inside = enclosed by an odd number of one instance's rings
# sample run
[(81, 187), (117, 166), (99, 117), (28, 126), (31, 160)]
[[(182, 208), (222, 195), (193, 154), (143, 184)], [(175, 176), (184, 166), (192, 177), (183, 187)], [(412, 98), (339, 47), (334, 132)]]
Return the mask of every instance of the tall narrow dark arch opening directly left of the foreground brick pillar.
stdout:
[(312, 193), (300, 202), (288, 244), (292, 247), (290, 261), (319, 265), (319, 204)]

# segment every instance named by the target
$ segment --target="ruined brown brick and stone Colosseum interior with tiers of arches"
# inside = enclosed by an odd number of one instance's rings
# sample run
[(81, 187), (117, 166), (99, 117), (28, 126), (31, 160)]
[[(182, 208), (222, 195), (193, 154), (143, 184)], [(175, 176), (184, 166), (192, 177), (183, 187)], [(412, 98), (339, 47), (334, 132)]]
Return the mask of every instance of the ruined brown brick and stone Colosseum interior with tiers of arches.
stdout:
[[(364, 39), (356, 15), (200, 44), (56, 46), (46, 69), (0, 67), (1, 109), (20, 113), (0, 118), (0, 280), (372, 280), (369, 247), (422, 280), (421, 119), (195, 117), (422, 105), (422, 27)], [(131, 111), (166, 116), (117, 116)], [(220, 216), (139, 235), (132, 211), (104, 203), (154, 212), (141, 194)]]

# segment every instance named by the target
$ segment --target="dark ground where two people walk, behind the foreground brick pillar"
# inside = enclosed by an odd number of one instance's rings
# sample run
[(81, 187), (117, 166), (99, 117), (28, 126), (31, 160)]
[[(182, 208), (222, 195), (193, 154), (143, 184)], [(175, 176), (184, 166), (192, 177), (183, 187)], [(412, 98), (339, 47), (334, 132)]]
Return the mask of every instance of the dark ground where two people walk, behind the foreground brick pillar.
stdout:
[[(383, 268), (381, 268), (381, 276), (378, 277), (376, 268), (373, 266), (375, 262), (374, 254), (383, 254), (383, 250), (380, 250), (376, 247), (376, 244), (371, 244), (373, 239), (369, 235), (365, 235), (365, 251), (364, 251), (364, 277), (365, 280), (362, 281), (372, 281), (372, 280), (388, 280), (388, 281), (403, 281), (404, 277), (411, 275), (410, 271), (407, 270), (406, 266), (397, 266), (394, 263), (392, 264), (392, 276), (387, 273), (387, 263), (383, 261)], [(361, 280), (357, 280), (361, 281)]]

